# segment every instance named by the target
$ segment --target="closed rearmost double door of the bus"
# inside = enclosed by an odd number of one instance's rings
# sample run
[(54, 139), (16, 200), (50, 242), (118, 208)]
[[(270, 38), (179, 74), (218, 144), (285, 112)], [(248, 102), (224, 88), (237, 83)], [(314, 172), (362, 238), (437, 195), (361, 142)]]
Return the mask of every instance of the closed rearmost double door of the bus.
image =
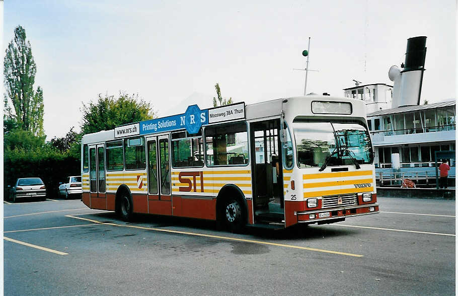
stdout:
[(105, 145), (89, 146), (90, 207), (107, 209)]

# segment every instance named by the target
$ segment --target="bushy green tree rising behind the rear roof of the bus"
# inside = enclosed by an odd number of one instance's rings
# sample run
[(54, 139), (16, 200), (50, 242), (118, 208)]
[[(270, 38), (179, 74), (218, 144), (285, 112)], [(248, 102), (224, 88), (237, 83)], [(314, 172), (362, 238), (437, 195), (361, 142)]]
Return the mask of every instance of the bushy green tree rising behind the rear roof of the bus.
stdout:
[(122, 92), (119, 92), (117, 97), (102, 97), (99, 94), (96, 103), (83, 103), (81, 112), (83, 134), (110, 130), (118, 125), (148, 120), (156, 116), (150, 104), (140, 99), (138, 94), (129, 96)]

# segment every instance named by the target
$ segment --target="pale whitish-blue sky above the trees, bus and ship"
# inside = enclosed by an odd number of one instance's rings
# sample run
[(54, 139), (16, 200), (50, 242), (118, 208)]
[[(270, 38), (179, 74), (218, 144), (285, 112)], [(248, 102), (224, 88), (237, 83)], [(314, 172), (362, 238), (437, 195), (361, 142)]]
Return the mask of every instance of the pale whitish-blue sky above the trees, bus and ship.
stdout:
[[(27, 1), (4, 3), (4, 50), (25, 28), (44, 97), (47, 139), (79, 131), (98, 94), (139, 94), (159, 116), (223, 97), (251, 104), (386, 83), (407, 39), (427, 36), (421, 101), (456, 96), (456, 2)], [(208, 98), (208, 100), (206, 100)], [(208, 105), (203, 106), (206, 102)]]

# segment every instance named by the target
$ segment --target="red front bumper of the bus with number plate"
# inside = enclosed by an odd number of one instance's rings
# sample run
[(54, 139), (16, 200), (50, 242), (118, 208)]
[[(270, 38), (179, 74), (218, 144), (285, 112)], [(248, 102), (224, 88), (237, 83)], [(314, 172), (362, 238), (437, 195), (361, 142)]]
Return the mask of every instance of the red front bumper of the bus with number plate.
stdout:
[[(313, 211), (301, 211), (296, 212), (296, 214), (298, 223), (319, 223), (320, 221), (377, 214), (379, 212), (378, 202), (376, 202), (364, 205), (352, 205)], [(320, 214), (322, 214), (323, 217), (320, 217)], [(311, 218), (311, 215), (314, 215), (315, 217)]]

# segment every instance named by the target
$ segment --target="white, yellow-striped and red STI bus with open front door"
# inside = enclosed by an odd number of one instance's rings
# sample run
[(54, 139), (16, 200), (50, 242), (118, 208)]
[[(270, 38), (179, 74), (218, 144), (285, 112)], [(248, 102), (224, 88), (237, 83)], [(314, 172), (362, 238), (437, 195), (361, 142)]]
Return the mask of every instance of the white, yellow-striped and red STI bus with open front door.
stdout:
[(83, 202), (231, 231), (379, 213), (364, 102), (308, 95), (145, 120), (82, 139)]

